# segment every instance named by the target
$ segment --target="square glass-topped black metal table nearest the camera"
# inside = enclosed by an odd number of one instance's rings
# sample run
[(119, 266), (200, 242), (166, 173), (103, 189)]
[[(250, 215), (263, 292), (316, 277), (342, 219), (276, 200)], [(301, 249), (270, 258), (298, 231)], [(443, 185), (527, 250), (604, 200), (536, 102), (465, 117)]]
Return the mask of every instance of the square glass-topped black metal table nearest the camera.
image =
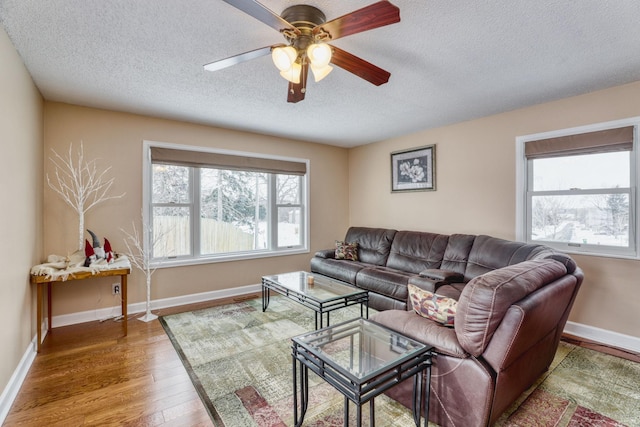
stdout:
[(345, 426), (349, 425), (349, 401), (355, 403), (358, 427), (364, 403), (369, 402), (373, 426), (374, 398), (413, 377), (413, 419), (419, 427), (424, 413), (424, 426), (428, 425), (433, 347), (367, 319), (350, 320), (291, 340), (296, 426), (302, 425), (309, 403), (309, 370), (344, 396)]

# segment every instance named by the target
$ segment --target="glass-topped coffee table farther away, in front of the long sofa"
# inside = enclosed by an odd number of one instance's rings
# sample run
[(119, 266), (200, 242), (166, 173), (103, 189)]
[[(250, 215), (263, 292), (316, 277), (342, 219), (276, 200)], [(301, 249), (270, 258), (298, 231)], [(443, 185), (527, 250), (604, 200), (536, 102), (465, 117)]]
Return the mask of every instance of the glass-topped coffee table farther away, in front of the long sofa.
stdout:
[[(315, 311), (316, 326), (322, 328), (324, 315), (329, 326), (329, 313), (333, 310), (360, 304), (360, 317), (369, 317), (369, 293), (347, 283), (306, 271), (262, 277), (262, 311), (269, 306), (270, 291)], [(320, 318), (320, 322), (318, 322)], [(319, 323), (319, 325), (318, 325)]]

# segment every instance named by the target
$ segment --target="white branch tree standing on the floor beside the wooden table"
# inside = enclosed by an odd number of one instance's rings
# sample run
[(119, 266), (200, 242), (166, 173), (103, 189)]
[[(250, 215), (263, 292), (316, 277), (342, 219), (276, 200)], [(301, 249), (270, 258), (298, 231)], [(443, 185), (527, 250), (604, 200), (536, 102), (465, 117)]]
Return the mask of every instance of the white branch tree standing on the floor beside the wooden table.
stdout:
[[(166, 232), (153, 232), (153, 228), (151, 224), (149, 224), (144, 219), (144, 215), (142, 216), (142, 229), (138, 230), (135, 222), (131, 221), (131, 225), (133, 228), (132, 232), (128, 232), (124, 229), (120, 229), (124, 235), (124, 245), (127, 248), (127, 257), (131, 264), (136, 267), (138, 270), (142, 271), (145, 275), (146, 285), (147, 285), (147, 307), (146, 313), (144, 316), (140, 317), (139, 320), (144, 322), (150, 322), (153, 319), (157, 319), (158, 316), (151, 312), (151, 276), (155, 273), (157, 266), (151, 266), (151, 259), (153, 256), (153, 248), (156, 247), (159, 243), (164, 242), (164, 236)], [(153, 237), (152, 237), (153, 236)], [(146, 245), (144, 244), (145, 240), (148, 242)]]

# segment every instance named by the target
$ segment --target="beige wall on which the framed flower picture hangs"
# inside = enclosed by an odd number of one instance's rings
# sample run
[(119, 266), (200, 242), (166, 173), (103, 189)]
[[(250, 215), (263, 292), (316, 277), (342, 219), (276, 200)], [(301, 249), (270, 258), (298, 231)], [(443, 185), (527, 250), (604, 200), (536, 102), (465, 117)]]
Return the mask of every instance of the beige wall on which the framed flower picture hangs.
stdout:
[[(350, 224), (515, 238), (517, 136), (640, 116), (640, 82), (366, 145), (349, 153)], [(389, 153), (437, 144), (437, 191), (390, 192)], [(640, 336), (640, 261), (575, 256), (570, 320)]]

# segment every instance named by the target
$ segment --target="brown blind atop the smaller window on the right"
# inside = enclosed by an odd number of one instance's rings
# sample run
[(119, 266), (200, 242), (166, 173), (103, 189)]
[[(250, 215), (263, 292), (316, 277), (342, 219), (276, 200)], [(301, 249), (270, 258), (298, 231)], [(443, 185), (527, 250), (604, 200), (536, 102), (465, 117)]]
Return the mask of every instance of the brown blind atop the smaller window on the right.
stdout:
[(527, 141), (524, 153), (527, 159), (571, 156), (579, 154), (631, 151), (633, 126), (580, 133), (557, 138)]

